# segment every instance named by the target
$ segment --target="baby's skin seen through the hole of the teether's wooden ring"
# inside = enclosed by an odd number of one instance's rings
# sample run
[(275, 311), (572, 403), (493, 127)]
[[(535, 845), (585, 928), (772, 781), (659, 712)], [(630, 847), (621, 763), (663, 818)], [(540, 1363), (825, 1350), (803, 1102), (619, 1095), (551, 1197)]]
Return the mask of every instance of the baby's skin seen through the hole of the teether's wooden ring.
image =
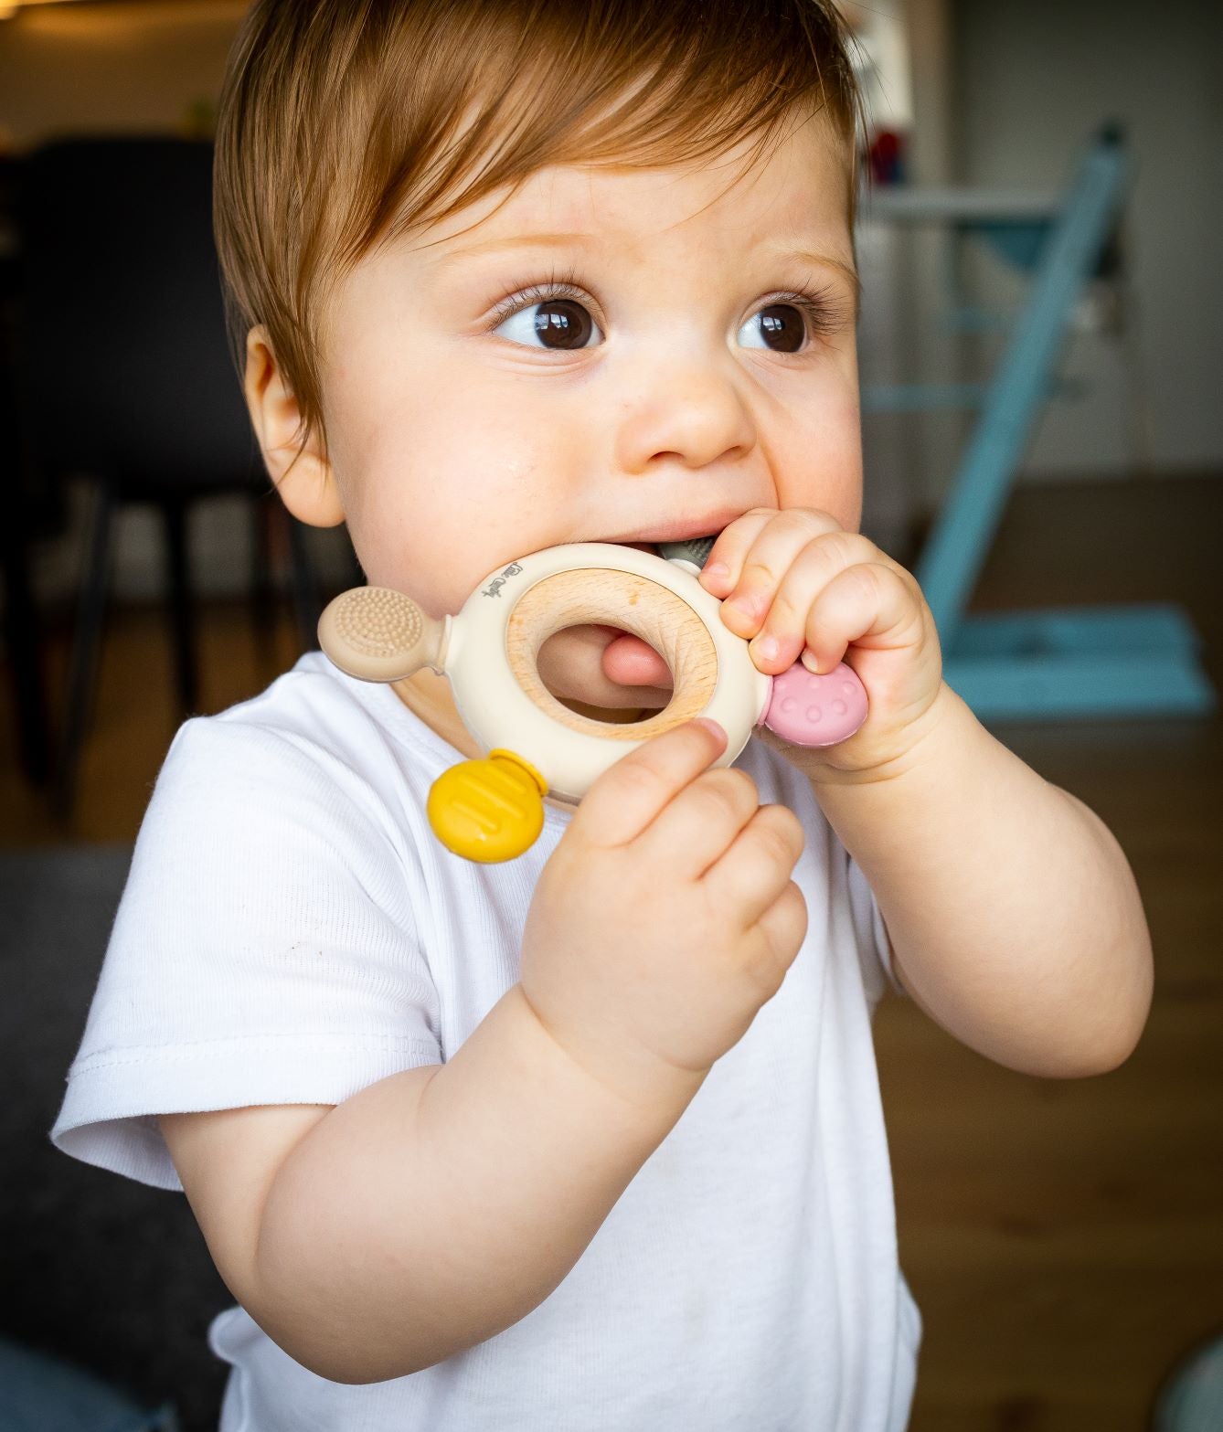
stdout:
[(640, 637), (606, 626), (557, 632), (540, 647), (544, 686), (594, 720), (634, 720), (672, 696), (666, 662)]

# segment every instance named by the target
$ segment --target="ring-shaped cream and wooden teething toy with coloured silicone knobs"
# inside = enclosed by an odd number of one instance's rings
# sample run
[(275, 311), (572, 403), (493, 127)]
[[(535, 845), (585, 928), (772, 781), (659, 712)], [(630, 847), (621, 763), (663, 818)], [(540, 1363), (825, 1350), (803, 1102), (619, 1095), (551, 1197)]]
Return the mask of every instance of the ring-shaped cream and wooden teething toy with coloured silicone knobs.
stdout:
[[(540, 833), (546, 795), (580, 800), (613, 762), (693, 716), (726, 732), (719, 766), (758, 725), (796, 745), (829, 746), (866, 719), (866, 693), (845, 663), (821, 676), (801, 662), (776, 677), (756, 669), (748, 643), (723, 626), (719, 599), (696, 580), (712, 544), (669, 544), (670, 560), (612, 543), (548, 547), (490, 573), (457, 616), (441, 620), (400, 591), (355, 587), (322, 613), (319, 644), (362, 680), (397, 682), (425, 666), (450, 679), (464, 725), (488, 755), (434, 782), (430, 825), (455, 855), (511, 859)], [(626, 725), (563, 706), (537, 657), (550, 636), (583, 623), (647, 642), (672, 673), (670, 702)]]

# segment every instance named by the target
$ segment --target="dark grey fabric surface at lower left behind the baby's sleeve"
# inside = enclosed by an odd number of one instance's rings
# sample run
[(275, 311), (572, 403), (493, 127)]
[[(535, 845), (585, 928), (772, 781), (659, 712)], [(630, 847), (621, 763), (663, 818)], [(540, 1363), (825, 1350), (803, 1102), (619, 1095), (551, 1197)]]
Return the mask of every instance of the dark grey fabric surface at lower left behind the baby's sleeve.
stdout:
[(232, 1299), (186, 1200), (47, 1138), (130, 853), (0, 853), (0, 1336), (146, 1406), (173, 1402), (185, 1432), (215, 1432), (225, 1368), (205, 1330)]

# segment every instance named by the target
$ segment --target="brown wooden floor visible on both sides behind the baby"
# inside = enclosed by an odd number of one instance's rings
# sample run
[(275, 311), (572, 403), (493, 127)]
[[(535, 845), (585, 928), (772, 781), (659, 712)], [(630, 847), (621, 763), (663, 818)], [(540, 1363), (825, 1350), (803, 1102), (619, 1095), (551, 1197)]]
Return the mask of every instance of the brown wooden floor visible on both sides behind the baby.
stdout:
[[(1220, 478), (1023, 491), (977, 603), (1180, 600), (1223, 686), (1220, 533)], [(252, 695), (292, 654), (286, 620), (256, 650), (242, 609), (211, 609), (200, 709)], [(62, 669), (60, 640), (53, 684)], [(176, 725), (169, 689), (155, 614), (116, 614), (70, 826), (20, 779), (6, 727), (0, 842), (130, 841)], [(998, 735), (1121, 841), (1156, 1002), (1128, 1064), (1078, 1083), (1011, 1074), (912, 1007), (881, 1008), (901, 1259), (925, 1317), (912, 1429), (1143, 1432), (1169, 1368), (1223, 1332), (1223, 726)]]

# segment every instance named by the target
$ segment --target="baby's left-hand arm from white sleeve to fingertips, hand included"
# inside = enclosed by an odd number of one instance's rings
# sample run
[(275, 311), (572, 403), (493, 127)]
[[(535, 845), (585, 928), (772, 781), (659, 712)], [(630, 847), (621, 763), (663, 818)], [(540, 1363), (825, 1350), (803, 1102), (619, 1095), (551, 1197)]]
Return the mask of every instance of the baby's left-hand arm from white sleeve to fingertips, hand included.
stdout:
[(162, 1118), (218, 1269), (338, 1382), (430, 1366), (566, 1276), (798, 954), (802, 828), (689, 723), (591, 786), (521, 979), (440, 1067), (335, 1108)]

